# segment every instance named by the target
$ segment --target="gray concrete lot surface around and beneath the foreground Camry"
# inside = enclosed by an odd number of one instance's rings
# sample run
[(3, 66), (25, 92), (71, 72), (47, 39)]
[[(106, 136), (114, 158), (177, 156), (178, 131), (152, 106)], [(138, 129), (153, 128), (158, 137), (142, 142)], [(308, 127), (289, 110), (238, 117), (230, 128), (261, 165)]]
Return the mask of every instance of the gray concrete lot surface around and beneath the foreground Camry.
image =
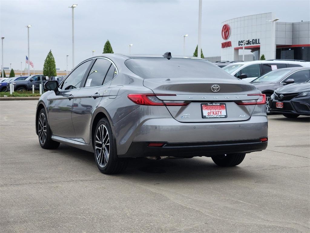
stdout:
[(269, 117), (267, 150), (132, 159), (104, 175), (92, 153), (40, 147), (37, 101), (0, 102), (0, 232), (310, 232), (310, 118)]

